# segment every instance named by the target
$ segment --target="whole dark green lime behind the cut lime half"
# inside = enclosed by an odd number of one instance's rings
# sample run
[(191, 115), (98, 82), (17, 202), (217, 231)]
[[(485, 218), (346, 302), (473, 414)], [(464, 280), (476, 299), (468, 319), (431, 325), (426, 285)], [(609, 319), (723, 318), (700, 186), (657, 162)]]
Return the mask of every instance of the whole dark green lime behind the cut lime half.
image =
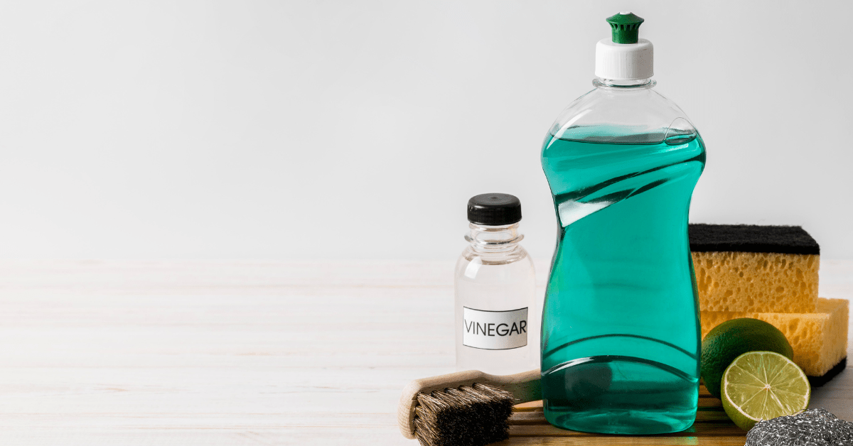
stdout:
[(775, 351), (793, 359), (794, 350), (785, 334), (765, 321), (742, 317), (722, 322), (702, 341), (702, 379), (714, 397), (720, 397), (722, 374), (734, 358), (747, 351)]

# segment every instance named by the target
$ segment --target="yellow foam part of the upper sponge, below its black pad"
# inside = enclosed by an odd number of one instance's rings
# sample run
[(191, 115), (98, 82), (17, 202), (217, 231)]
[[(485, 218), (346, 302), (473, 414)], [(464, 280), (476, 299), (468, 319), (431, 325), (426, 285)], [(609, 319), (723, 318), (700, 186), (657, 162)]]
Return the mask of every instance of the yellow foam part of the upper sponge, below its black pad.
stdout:
[(820, 258), (778, 252), (693, 252), (699, 309), (813, 313)]

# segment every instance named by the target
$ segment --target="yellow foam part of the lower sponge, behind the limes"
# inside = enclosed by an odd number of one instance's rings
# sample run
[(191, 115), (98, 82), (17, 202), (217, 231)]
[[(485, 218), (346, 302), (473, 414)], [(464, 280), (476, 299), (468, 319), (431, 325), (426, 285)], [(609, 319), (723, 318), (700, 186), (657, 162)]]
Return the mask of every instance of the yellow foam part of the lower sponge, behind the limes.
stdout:
[[(742, 255), (743, 253), (740, 253)], [(794, 362), (809, 376), (823, 376), (847, 356), (850, 301), (820, 298), (813, 313), (701, 311), (702, 338), (724, 321), (751, 317), (779, 328), (794, 350)]]

